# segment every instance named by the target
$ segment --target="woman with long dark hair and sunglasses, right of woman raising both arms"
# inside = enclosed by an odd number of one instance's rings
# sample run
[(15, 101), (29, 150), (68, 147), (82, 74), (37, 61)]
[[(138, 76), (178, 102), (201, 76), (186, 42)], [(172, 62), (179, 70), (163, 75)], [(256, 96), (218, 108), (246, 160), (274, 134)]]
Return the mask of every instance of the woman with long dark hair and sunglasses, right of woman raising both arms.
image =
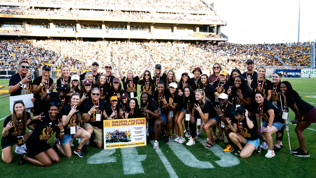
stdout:
[(143, 79), (141, 81), (138, 82), (139, 85), (141, 85), (140, 87), (140, 93), (148, 93), (150, 95), (151, 98), (154, 98), (154, 92), (155, 92), (155, 82), (154, 80), (151, 78), (151, 74), (149, 70), (146, 70), (144, 75), (143, 75)]

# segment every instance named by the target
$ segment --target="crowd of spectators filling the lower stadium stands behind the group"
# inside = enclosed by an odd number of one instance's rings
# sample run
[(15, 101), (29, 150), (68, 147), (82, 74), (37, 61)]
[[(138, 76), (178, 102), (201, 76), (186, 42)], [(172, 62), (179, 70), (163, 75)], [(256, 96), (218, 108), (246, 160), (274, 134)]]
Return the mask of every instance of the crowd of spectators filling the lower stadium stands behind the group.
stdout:
[[(31, 45), (32, 44), (32, 45)], [(202, 70), (210, 70), (214, 62), (220, 62), (227, 70), (239, 68), (246, 70), (244, 61), (254, 60), (256, 64), (278, 68), (283, 66), (276, 58), (280, 56), (287, 66), (302, 67), (310, 65), (310, 43), (304, 44), (179, 44), (179, 43), (141, 43), (121, 41), (52, 41), (32, 40), (2, 42), (0, 61), (4, 62), (1, 70), (15, 69), (14, 65), (21, 59), (31, 62), (31, 69), (39, 68), (45, 61), (52, 64), (53, 69), (69, 65), (76, 70), (82, 62), (91, 66), (93, 61), (99, 62), (100, 68), (111, 63), (112, 56), (121, 55), (122, 70), (141, 70), (143, 61), (150, 57), (154, 64), (168, 66), (175, 70), (188, 70), (191, 66), (199, 66)], [(269, 48), (271, 47), (271, 50)], [(274, 54), (274, 53), (275, 54)], [(58, 60), (62, 56), (61, 60)], [(57, 62), (55, 64), (55, 62)], [(54, 65), (55, 64), (55, 65)], [(117, 68), (113, 60), (113, 69)], [(101, 71), (102, 72), (102, 71)]]

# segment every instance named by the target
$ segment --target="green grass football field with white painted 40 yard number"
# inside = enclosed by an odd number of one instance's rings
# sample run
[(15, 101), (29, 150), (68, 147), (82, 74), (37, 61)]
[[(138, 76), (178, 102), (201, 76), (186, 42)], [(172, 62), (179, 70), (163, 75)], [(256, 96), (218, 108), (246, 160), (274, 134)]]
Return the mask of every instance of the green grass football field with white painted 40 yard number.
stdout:
[[(294, 89), (299, 92), (302, 99), (316, 105), (316, 79), (282, 79), (288, 80)], [(0, 79), (0, 125), (10, 113), (9, 111), (9, 79)], [(6, 92), (5, 92), (6, 91)], [(139, 96), (138, 96), (139, 97)], [(290, 119), (294, 119), (290, 111)], [(295, 125), (289, 124), (292, 149), (299, 147), (294, 131)], [(97, 149), (88, 146), (88, 155), (79, 158), (74, 155), (65, 158), (60, 152), (60, 162), (48, 168), (37, 167), (31, 163), (17, 165), (19, 155), (13, 150), (13, 162), (6, 164), (0, 161), (1, 177), (315, 177), (314, 165), (316, 163), (316, 124), (311, 124), (304, 131), (307, 151), (311, 157), (296, 157), (289, 154), (287, 133), (284, 133), (283, 147), (276, 152), (276, 156), (265, 158), (266, 150), (260, 155), (252, 155), (241, 159), (234, 156), (234, 152), (224, 154), (223, 141), (219, 139), (214, 147), (205, 149), (206, 135), (201, 137), (193, 146), (185, 143), (164, 144), (159, 141), (159, 149), (154, 150), (147, 139), (147, 146), (125, 149)], [(275, 134), (272, 135), (275, 142)], [(53, 136), (49, 140), (53, 142)], [(218, 137), (217, 137), (218, 138)], [(186, 139), (187, 140), (187, 139)], [(261, 143), (261, 142), (260, 142)], [(78, 141), (74, 140), (75, 147)], [(72, 150), (75, 148), (72, 147)], [(13, 147), (15, 149), (15, 147)], [(137, 155), (138, 154), (138, 155)]]

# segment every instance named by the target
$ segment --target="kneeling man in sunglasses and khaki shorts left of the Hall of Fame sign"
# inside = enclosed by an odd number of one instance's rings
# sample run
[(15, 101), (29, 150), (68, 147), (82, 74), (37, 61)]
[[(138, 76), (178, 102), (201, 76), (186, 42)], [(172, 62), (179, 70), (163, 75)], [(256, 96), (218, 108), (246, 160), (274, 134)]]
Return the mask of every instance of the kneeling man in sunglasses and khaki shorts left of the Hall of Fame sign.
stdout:
[(91, 99), (89, 99), (82, 108), (83, 129), (94, 136), (95, 145), (98, 148), (103, 147), (103, 120), (105, 116), (105, 102), (100, 99), (100, 89), (93, 88)]

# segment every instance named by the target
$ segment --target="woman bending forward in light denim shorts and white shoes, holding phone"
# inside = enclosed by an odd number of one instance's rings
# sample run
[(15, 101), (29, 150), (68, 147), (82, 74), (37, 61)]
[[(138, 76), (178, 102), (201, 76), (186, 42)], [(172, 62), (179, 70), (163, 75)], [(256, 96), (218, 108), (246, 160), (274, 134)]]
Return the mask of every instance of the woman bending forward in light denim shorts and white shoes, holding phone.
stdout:
[[(274, 150), (272, 149), (273, 140), (271, 135), (282, 129), (284, 121), (280, 115), (275, 113), (272, 103), (264, 100), (263, 92), (256, 92), (255, 100), (258, 103), (258, 109), (256, 111), (257, 133), (260, 134), (260, 139), (267, 143), (269, 150), (265, 157), (270, 158), (275, 156)], [(262, 130), (259, 130), (260, 117), (262, 119)]]

